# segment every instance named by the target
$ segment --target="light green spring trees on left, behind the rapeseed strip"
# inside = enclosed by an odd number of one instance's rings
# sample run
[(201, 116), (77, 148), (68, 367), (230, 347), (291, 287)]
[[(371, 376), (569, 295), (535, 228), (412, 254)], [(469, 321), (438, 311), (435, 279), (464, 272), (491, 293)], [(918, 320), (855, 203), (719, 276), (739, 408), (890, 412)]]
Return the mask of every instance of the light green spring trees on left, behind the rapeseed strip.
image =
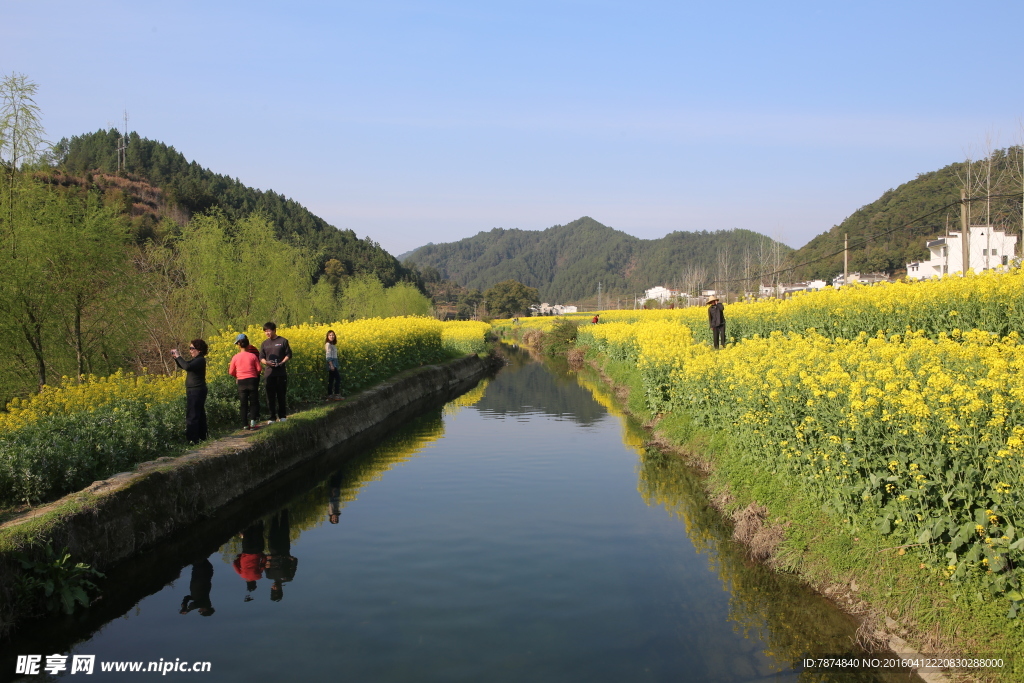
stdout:
[(78, 147), (46, 143), (37, 89), (20, 75), (0, 81), (3, 404), (65, 376), (171, 372), (169, 348), (228, 327), (430, 312), (387, 252), (303, 232), (302, 212), (282, 222), (218, 202), (138, 220), (111, 176), (69, 179), (60, 160)]

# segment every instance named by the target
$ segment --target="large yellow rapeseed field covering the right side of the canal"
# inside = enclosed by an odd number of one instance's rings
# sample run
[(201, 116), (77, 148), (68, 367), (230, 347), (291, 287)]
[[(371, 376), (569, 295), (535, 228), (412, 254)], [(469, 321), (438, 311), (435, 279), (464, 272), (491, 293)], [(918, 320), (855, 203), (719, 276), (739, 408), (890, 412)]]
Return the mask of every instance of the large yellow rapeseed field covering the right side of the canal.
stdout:
[(980, 577), (1016, 614), (1022, 298), (1016, 270), (733, 304), (720, 351), (699, 308), (608, 311), (580, 342), (636, 364), (653, 412), (724, 430), (758, 468), (912, 544), (940, 581)]

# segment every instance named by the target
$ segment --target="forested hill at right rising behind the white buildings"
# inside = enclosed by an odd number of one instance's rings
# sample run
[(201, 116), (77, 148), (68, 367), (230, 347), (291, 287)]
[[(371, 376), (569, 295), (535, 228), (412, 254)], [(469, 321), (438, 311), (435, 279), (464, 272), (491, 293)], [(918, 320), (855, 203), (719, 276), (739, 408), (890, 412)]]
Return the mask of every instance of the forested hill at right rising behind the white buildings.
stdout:
[[(991, 195), (1012, 194), (1014, 197), (992, 200), (990, 215), (986, 216), (985, 201), (972, 202), (971, 224), (993, 224), (1017, 233), (1021, 229), (1021, 179), (1022, 161), (1020, 147), (996, 150), (989, 159), (968, 164), (950, 164), (938, 171), (922, 173), (913, 180), (861, 207), (849, 218), (827, 232), (811, 240), (792, 254), (792, 263), (816, 261), (798, 268), (797, 274), (805, 278), (830, 279), (843, 271), (843, 255), (821, 257), (841, 252), (843, 238), (850, 236), (850, 270), (860, 272), (899, 273), (906, 264), (928, 258), (925, 242), (945, 234), (949, 229), (959, 230), (959, 208), (940, 210), (957, 202), (961, 189), (969, 183), (969, 197), (985, 197), (987, 178), (991, 177)], [(989, 170), (991, 171), (989, 173)], [(932, 213), (935, 212), (935, 213)], [(922, 220), (920, 216), (932, 215)], [(907, 226), (908, 223), (912, 223)], [(905, 227), (907, 226), (907, 227)], [(869, 236), (893, 230), (890, 234), (864, 242)]]

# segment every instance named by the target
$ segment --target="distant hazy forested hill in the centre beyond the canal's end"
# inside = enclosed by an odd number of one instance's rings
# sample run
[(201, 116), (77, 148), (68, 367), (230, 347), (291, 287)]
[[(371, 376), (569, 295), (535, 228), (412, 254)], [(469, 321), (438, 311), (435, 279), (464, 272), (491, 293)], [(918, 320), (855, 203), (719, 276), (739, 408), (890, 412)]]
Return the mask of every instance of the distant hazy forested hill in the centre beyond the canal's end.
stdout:
[[(730, 275), (744, 255), (763, 253), (771, 241), (750, 230), (672, 232), (641, 240), (583, 217), (546, 230), (495, 228), (459, 242), (426, 245), (406, 264), (436, 268), (440, 276), (485, 290), (504, 280), (536, 287), (544, 301), (565, 303), (604, 292), (641, 293), (656, 285), (707, 284), (725, 255)], [(780, 245), (783, 254), (792, 251)]]

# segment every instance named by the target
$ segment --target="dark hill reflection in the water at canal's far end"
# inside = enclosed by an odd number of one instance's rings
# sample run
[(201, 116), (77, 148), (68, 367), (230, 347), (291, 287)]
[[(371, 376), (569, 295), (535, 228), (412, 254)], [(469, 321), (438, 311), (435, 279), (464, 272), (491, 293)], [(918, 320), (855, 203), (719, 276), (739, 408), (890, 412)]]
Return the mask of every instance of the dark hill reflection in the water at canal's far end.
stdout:
[[(508, 365), (487, 386), (476, 404), (480, 411), (498, 415), (541, 412), (591, 425), (605, 415), (591, 393), (564, 372), (549, 372), (547, 364), (536, 362), (524, 351), (505, 351)], [(563, 361), (564, 365), (564, 361)]]

